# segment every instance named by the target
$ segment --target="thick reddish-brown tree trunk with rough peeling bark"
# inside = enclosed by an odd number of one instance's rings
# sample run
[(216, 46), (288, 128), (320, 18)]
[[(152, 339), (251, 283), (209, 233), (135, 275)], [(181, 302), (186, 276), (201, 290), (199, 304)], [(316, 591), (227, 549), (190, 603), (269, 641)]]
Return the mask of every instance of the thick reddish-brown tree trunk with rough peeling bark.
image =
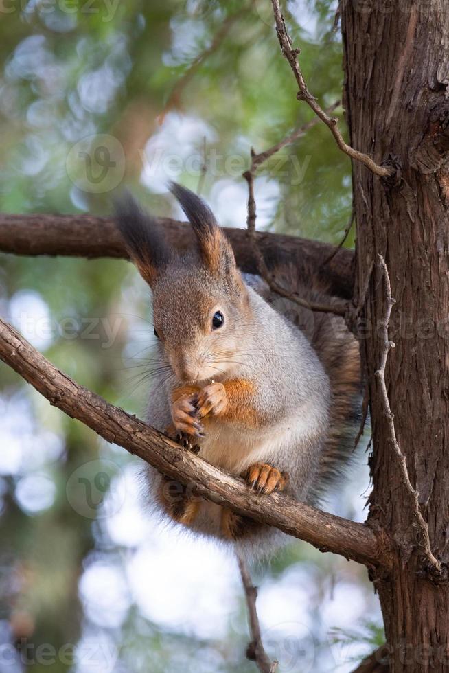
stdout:
[[(397, 168), (378, 179), (354, 163), (356, 286), (387, 263), (396, 304), (386, 379), (395, 433), (419, 493), (433, 554), (449, 550), (449, 2), (341, 0), (345, 108), (351, 144)], [(431, 581), (395, 455), (380, 385), (385, 283), (378, 267), (360, 332), (371, 396), (370, 521), (395, 545), (392, 570), (373, 578), (391, 670), (446, 671), (449, 586)]]

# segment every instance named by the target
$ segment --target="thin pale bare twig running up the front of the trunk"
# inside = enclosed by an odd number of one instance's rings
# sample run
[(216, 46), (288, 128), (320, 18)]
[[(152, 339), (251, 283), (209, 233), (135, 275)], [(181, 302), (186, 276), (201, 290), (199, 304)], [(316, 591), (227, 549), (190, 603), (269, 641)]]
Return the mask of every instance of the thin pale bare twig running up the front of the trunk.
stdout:
[(395, 304), (395, 299), (391, 296), (391, 284), (390, 284), (390, 277), (387, 269), (387, 264), (385, 264), (385, 260), (382, 257), (382, 255), (378, 255), (378, 265), (380, 267), (380, 271), (382, 272), (382, 275), (384, 277), (384, 282), (385, 282), (385, 291), (386, 291), (386, 299), (387, 299), (387, 308), (385, 310), (385, 316), (384, 319), (382, 320), (381, 327), (382, 327), (382, 355), (380, 358), (380, 366), (379, 369), (376, 371), (376, 378), (378, 379), (379, 386), (380, 386), (380, 396), (382, 400), (382, 404), (384, 407), (384, 415), (385, 418), (387, 419), (387, 424), (389, 428), (389, 435), (390, 435), (390, 442), (391, 446), (393, 446), (393, 450), (395, 452), (395, 455), (398, 457), (398, 464), (400, 467), (400, 472), (402, 475), (402, 482), (404, 483), (404, 486), (406, 488), (406, 491), (408, 492), (412, 507), (413, 507), (413, 514), (415, 516), (416, 522), (417, 522), (417, 528), (418, 528), (418, 543), (419, 547), (422, 551), (422, 554), (424, 558), (426, 558), (429, 569), (432, 573), (434, 573), (438, 578), (441, 576), (441, 573), (443, 571), (441, 562), (432, 553), (432, 549), (430, 547), (430, 538), (428, 534), (428, 524), (426, 521), (424, 521), (424, 518), (421, 514), (421, 510), (419, 508), (419, 495), (418, 492), (415, 488), (413, 488), (412, 483), (410, 481), (410, 476), (408, 475), (408, 469), (407, 469), (407, 463), (406, 463), (406, 457), (404, 453), (402, 453), (402, 450), (399, 446), (398, 438), (396, 437), (396, 431), (395, 431), (395, 424), (394, 424), (394, 415), (391, 411), (390, 407), (390, 401), (389, 401), (389, 396), (388, 396), (388, 391), (387, 391), (387, 384), (385, 383), (385, 367), (387, 366), (387, 358), (388, 354), (391, 350), (391, 348), (395, 347), (395, 344), (393, 341), (390, 341), (389, 339), (389, 323), (390, 323), (390, 316), (391, 316), (391, 309), (393, 308)]

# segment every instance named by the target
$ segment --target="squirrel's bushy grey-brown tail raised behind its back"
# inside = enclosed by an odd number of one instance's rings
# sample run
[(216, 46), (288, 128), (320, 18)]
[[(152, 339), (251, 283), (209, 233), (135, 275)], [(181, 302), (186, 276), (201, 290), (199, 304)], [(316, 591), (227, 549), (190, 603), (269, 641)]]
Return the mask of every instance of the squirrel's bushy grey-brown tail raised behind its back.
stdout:
[[(311, 303), (328, 305), (338, 301), (316, 281), (312, 284), (308, 279), (299, 280), (292, 264), (279, 264), (275, 277), (284, 288)], [(343, 317), (303, 308), (294, 301), (271, 293), (260, 279), (257, 279), (255, 289), (306, 334), (330, 379), (329, 431), (309, 498), (311, 502), (316, 502), (341, 476), (354, 452), (362, 391), (358, 342), (347, 329)]]

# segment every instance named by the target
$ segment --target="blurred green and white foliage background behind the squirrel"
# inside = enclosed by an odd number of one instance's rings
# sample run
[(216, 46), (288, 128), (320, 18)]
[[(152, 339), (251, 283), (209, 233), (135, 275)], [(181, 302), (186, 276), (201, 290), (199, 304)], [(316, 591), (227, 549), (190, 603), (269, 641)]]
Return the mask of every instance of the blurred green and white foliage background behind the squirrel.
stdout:
[[(284, 2), (322, 106), (341, 97), (336, 4)], [(269, 0), (3, 0), (0, 58), (3, 212), (108, 214), (128, 185), (153, 212), (180, 217), (165, 187), (176, 179), (223, 225), (244, 227), (251, 146), (312, 117)], [(260, 229), (337, 243), (349, 161), (314, 126), (260, 170), (255, 196)], [(133, 266), (1, 255), (0, 312), (79, 383), (143, 415), (152, 323)], [(0, 673), (254, 672), (232, 556), (154, 521), (137, 459), (5, 365), (0, 377)], [(358, 521), (364, 448), (327, 503)], [(350, 671), (382, 641), (364, 568), (292, 540), (253, 575), (281, 672)]]

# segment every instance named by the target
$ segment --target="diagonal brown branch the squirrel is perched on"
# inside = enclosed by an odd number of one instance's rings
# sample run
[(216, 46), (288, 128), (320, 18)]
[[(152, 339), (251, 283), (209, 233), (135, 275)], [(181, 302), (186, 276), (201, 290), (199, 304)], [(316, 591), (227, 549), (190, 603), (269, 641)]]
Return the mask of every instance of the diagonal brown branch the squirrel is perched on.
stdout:
[(321, 512), (283, 494), (261, 497), (252, 492), (242, 479), (218, 470), (60, 372), (1, 318), (0, 359), (50, 404), (164, 475), (184, 484), (194, 483), (200, 497), (277, 527), (321, 551), (332, 551), (370, 567), (389, 563), (386, 540), (367, 525)]

